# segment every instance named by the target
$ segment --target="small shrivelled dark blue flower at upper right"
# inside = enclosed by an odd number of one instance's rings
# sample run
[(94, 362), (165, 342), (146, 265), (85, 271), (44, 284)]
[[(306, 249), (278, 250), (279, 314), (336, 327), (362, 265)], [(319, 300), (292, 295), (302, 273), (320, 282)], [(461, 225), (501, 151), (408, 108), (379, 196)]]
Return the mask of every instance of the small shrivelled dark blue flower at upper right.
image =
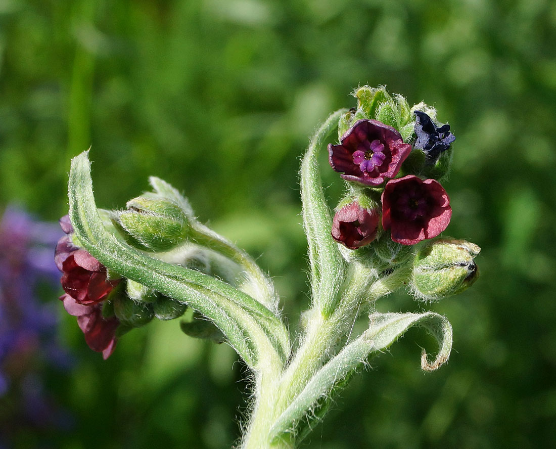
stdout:
[(424, 112), (415, 111), (415, 148), (426, 154), (429, 164), (434, 164), (440, 153), (449, 149), (455, 136), (450, 132), (450, 125), (436, 126)]

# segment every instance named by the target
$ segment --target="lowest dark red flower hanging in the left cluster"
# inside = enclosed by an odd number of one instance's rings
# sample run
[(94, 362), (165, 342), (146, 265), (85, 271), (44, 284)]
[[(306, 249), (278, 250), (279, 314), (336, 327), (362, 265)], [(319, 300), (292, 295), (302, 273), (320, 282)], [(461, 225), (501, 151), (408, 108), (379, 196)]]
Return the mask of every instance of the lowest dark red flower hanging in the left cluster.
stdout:
[(93, 351), (101, 352), (105, 360), (110, 357), (116, 347), (116, 329), (120, 321), (116, 317), (103, 317), (101, 304), (83, 305), (67, 293), (60, 300), (66, 312), (77, 317), (77, 324), (88, 346)]

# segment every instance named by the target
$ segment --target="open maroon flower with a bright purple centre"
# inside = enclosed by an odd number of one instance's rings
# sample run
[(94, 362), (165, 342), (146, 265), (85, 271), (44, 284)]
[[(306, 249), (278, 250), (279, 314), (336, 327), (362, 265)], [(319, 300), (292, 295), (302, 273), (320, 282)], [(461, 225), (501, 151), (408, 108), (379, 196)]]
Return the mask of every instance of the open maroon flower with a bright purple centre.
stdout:
[(377, 120), (358, 120), (340, 139), (328, 145), (332, 168), (347, 181), (379, 185), (398, 174), (411, 151), (393, 127)]

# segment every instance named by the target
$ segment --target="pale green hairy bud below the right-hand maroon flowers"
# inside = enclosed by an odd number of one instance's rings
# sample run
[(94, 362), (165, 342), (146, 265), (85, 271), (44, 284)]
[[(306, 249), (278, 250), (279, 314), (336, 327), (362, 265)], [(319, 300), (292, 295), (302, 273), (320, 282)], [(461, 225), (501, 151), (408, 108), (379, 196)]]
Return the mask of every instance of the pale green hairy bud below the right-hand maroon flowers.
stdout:
[(479, 246), (465, 240), (431, 241), (415, 256), (411, 291), (415, 298), (438, 301), (463, 292), (479, 277), (474, 258)]

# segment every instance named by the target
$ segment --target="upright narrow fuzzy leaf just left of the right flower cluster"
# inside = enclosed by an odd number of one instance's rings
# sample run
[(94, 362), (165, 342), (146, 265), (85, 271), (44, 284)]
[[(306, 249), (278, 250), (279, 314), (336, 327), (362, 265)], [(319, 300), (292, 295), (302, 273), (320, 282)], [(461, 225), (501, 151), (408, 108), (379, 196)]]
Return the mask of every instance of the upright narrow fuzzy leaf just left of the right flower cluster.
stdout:
[(322, 189), (318, 151), (326, 137), (337, 126), (341, 109), (330, 115), (312, 137), (301, 162), (301, 201), (303, 224), (309, 243), (312, 297), (322, 314), (329, 316), (338, 301), (338, 291), (344, 281), (345, 261), (330, 231), (332, 218)]

